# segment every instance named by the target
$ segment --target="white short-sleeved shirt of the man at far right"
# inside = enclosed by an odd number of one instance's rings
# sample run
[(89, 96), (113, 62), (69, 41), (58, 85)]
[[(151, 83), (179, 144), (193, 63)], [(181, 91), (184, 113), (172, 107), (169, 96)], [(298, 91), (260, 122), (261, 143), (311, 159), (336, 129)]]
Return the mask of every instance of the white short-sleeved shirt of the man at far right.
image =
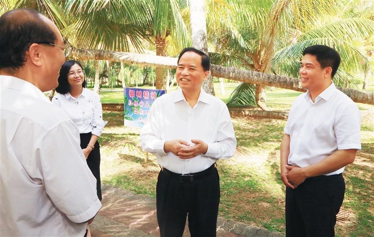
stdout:
[[(313, 103), (309, 91), (292, 104), (284, 132), (290, 135), (288, 164), (316, 164), (337, 150), (361, 149), (357, 105), (332, 83)], [(344, 167), (326, 174), (340, 174)]]

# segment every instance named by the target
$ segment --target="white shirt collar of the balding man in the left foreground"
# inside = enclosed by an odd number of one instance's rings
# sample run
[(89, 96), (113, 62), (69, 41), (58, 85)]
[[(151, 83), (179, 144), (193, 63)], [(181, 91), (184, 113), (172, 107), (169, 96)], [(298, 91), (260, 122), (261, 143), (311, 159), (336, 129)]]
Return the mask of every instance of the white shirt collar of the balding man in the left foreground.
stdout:
[(37, 99), (50, 102), (47, 96), (45, 96), (35, 85), (14, 76), (0, 75), (0, 87), (22, 91), (23, 93), (31, 95)]

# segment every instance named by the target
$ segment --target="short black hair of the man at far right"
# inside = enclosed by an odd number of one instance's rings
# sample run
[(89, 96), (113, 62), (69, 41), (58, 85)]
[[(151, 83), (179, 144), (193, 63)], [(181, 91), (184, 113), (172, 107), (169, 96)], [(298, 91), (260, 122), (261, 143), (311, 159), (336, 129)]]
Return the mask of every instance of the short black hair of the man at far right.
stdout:
[(334, 77), (337, 68), (340, 65), (340, 55), (335, 49), (326, 45), (313, 45), (304, 49), (302, 55), (306, 54), (315, 55), (321, 68), (331, 67), (333, 69), (331, 72), (331, 78)]

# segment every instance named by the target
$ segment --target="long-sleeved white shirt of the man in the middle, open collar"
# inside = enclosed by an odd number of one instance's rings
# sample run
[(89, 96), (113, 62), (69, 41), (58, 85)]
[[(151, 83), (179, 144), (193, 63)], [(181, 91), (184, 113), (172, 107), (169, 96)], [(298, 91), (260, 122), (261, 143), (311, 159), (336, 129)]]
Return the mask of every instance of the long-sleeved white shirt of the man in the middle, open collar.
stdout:
[[(201, 90), (192, 109), (182, 90), (157, 98), (139, 136), (143, 150), (153, 153), (157, 162), (178, 174), (196, 173), (207, 169), (218, 159), (233, 156), (236, 138), (230, 114), (224, 102)], [(180, 159), (164, 151), (167, 140), (182, 139), (191, 146), (191, 139), (207, 143), (205, 155)]]

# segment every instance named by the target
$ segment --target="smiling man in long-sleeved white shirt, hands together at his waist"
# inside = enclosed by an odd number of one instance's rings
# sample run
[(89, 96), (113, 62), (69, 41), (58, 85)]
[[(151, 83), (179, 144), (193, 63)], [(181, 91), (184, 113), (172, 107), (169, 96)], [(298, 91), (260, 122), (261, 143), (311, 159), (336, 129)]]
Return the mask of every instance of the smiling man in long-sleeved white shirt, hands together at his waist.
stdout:
[(162, 167), (157, 181), (157, 220), (161, 237), (182, 237), (186, 217), (191, 237), (214, 237), (220, 202), (218, 159), (236, 148), (224, 102), (201, 89), (209, 57), (194, 48), (178, 58), (181, 90), (159, 97), (140, 133), (141, 146)]

